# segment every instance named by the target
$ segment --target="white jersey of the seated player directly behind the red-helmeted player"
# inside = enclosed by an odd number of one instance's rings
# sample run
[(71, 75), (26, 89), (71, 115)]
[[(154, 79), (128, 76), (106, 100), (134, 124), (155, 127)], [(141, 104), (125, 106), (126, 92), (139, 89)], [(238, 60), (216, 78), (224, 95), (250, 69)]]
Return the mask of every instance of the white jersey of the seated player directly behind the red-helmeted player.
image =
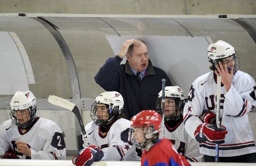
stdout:
[[(160, 133), (160, 137), (162, 134)], [(189, 161), (202, 161), (202, 154), (199, 152), (199, 143), (191, 138), (184, 128), (183, 120), (174, 128), (169, 128), (165, 123), (164, 138), (170, 140), (175, 149)]]

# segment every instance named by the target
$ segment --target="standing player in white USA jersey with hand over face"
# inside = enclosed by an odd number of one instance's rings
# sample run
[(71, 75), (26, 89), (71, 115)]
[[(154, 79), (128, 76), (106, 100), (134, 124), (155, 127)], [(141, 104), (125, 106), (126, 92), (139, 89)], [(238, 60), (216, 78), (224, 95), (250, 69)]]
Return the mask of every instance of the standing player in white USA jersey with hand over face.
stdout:
[[(238, 70), (240, 61), (234, 47), (222, 40), (209, 45), (208, 57), (212, 71), (191, 85), (184, 107), (185, 128), (200, 142), (205, 161), (215, 161), (219, 143), (220, 162), (256, 162), (255, 140), (248, 120), (248, 113), (256, 106), (255, 80)], [(222, 82), (220, 129), (209, 121), (210, 116), (216, 115), (217, 75), (221, 75)]]

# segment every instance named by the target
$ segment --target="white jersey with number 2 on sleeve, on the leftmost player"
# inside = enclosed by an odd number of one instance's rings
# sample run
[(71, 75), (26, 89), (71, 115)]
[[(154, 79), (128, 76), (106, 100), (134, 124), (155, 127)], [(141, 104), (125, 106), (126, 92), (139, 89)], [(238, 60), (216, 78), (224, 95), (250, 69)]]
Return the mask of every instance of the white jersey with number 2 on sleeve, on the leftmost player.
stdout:
[(11, 119), (3, 122), (0, 125), (0, 156), (12, 149), (17, 156), (26, 159), (27, 156), (16, 151), (15, 141), (27, 143), (31, 159), (66, 159), (66, 145), (61, 129), (48, 119), (37, 117), (34, 125), (26, 131), (14, 125)]

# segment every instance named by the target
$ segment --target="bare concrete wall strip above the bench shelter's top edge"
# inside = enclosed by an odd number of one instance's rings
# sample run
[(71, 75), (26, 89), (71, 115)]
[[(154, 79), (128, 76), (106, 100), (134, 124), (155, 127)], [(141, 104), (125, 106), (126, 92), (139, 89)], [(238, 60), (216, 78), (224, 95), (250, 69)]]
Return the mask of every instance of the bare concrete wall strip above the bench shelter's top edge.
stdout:
[(256, 14), (256, 0), (0, 0), (0, 13)]

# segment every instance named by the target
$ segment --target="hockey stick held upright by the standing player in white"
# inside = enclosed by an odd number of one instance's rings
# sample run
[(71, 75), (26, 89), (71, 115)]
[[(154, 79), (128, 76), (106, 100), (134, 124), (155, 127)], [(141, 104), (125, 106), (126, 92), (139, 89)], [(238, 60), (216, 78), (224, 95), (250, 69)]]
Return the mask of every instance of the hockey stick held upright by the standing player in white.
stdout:
[[(221, 101), (221, 76), (217, 75), (217, 94), (216, 94), (216, 125), (220, 128), (220, 101)], [(215, 162), (219, 162), (219, 144), (216, 144)]]

